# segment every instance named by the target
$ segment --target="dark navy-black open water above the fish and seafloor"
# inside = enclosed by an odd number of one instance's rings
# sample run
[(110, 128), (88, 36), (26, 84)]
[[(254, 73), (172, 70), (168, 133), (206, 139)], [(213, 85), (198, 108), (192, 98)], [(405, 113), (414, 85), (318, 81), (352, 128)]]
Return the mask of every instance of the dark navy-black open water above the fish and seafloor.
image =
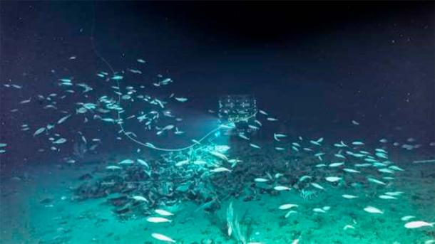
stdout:
[[(1, 83), (24, 86), (0, 88), (0, 141), (9, 144), (3, 162), (36, 157), (43, 142), (29, 134), (58, 119), (37, 103), (20, 107), (19, 101), (52, 92), (59, 77), (71, 74), (95, 90), (108, 90), (92, 80), (98, 70), (108, 71), (93, 52), (92, 35), (116, 70), (144, 58), (147, 74), (173, 78), (172, 89), (190, 98), (189, 111), (182, 114), (216, 110), (219, 95), (252, 93), (260, 108), (280, 118), (282, 125), (269, 133), (329, 142), (434, 141), (433, 1), (1, 1), (0, 6)], [(73, 63), (71, 55), (78, 57)], [(14, 108), (19, 112), (11, 113)], [(31, 133), (21, 132), (21, 123), (29, 124)], [(81, 129), (76, 123), (63, 133)], [(189, 124), (185, 129), (197, 131)], [(94, 133), (107, 137), (106, 149), (120, 144), (131, 149), (131, 142), (113, 139), (117, 130), (98, 127)]]

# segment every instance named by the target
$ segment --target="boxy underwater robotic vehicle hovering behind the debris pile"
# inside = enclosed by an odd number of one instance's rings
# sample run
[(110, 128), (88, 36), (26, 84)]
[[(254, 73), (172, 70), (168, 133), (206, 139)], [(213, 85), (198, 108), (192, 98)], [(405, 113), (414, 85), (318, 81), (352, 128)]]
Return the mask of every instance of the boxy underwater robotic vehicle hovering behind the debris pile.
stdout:
[(223, 95), (219, 97), (219, 120), (221, 124), (233, 123), (235, 128), (226, 134), (251, 133), (257, 114), (254, 95)]

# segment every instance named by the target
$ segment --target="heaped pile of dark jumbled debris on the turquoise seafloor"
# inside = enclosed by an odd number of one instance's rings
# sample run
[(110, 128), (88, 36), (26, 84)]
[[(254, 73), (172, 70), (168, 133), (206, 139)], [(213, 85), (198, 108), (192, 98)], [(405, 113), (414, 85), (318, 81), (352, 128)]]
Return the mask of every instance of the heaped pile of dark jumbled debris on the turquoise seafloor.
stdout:
[[(312, 169), (295, 155), (233, 147), (231, 154), (238, 158), (229, 159), (224, 154), (227, 149), (218, 145), (198, 146), (189, 152), (160, 155), (145, 165), (133, 163), (99, 169), (93, 176), (83, 177), (85, 182), (75, 189), (74, 199), (107, 198), (121, 218), (148, 216), (155, 208), (176, 208), (185, 201), (213, 212), (230, 197), (253, 201), (262, 193), (278, 194), (272, 182), (303, 189), (305, 186), (298, 179)], [(217, 167), (229, 171), (213, 171)], [(255, 181), (258, 177), (270, 182), (258, 183)]]

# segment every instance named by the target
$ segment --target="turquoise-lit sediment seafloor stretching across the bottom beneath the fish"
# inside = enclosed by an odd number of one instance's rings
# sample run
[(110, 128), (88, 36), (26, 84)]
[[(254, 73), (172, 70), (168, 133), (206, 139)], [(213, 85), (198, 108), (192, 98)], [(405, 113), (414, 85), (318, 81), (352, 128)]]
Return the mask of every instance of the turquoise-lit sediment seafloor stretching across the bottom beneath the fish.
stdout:
[[(242, 149), (238, 150), (237, 155), (243, 155)], [(419, 158), (418, 152), (394, 155), (399, 160), (392, 157), (391, 161), (404, 169), (396, 175), (394, 184), (355, 187), (323, 183), (324, 191), (308, 197), (301, 194), (305, 186), (297, 179), (310, 174), (309, 160), (267, 149), (245, 154), (231, 174), (210, 178), (214, 192), (206, 191), (211, 186), (192, 176), (188, 177), (193, 179), (188, 186), (190, 192), (180, 187), (188, 178), (174, 178), (183, 171), (159, 171), (159, 165), (165, 164), (162, 158), (147, 159), (153, 168), (151, 176), (134, 166), (108, 172), (108, 162), (103, 161), (126, 158), (120, 155), (101, 156), (101, 161), (94, 163), (34, 164), (15, 176), (2, 178), (1, 243), (159, 243), (151, 233), (164, 233), (177, 243), (237, 243), (227, 235), (230, 202), (247, 242), (292, 243), (299, 239), (300, 243), (398, 244), (433, 240), (434, 228), (407, 229), (401, 218), (434, 220), (434, 166), (411, 164)], [(290, 191), (275, 191), (272, 184), (253, 181), (282, 167), (289, 170), (280, 184), (292, 186)], [(138, 177), (145, 187), (140, 191), (148, 193), (150, 202), (138, 204), (126, 197), (139, 191), (136, 183), (123, 182), (126, 177)], [(102, 185), (108, 178), (116, 183)], [(197, 189), (201, 187), (205, 192)], [(377, 197), (390, 190), (404, 193), (398, 199)], [(346, 199), (342, 194), (358, 198)], [(285, 203), (297, 204), (292, 208), (295, 213), (286, 217), (288, 211), (279, 209)], [(325, 206), (330, 208), (324, 213), (313, 211)], [(363, 210), (366, 206), (376, 206), (383, 213), (367, 213)], [(158, 207), (174, 213), (171, 222), (146, 221), (147, 216), (155, 216), (153, 210)]]

